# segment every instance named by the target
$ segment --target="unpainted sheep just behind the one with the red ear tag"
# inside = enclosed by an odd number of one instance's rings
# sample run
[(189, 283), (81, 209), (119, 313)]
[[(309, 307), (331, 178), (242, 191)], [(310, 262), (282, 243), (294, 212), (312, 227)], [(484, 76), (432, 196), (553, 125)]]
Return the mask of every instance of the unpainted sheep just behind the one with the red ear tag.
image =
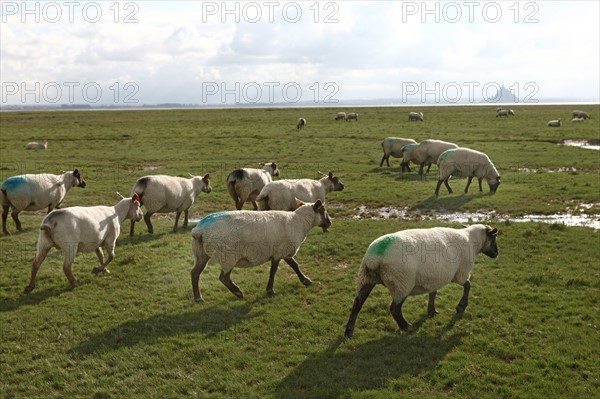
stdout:
[[(183, 212), (183, 228), (188, 225), (188, 211), (194, 204), (196, 197), (201, 192), (210, 193), (210, 176), (192, 176), (186, 179), (177, 176), (153, 175), (138, 179), (133, 185), (131, 195), (140, 196), (140, 204), (146, 208), (144, 221), (148, 227), (148, 233), (154, 233), (154, 227), (150, 218), (155, 213), (176, 212), (173, 231), (177, 231), (179, 216)], [(131, 221), (129, 235), (135, 234), (135, 220)]]

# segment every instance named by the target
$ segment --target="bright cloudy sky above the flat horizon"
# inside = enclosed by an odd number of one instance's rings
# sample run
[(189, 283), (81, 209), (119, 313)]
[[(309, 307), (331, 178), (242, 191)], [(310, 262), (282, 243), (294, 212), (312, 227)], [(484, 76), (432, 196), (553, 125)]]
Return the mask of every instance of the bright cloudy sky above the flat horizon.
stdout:
[(0, 1), (2, 106), (600, 102), (600, 2)]

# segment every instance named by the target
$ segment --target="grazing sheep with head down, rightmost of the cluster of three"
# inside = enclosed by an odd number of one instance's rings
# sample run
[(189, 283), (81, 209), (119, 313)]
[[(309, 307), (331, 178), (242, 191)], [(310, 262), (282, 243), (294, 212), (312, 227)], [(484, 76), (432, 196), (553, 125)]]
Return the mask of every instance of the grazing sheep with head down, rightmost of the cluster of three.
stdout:
[(479, 191), (482, 192), (481, 181), (485, 178), (490, 186), (490, 193), (494, 194), (500, 185), (500, 174), (490, 161), (490, 158), (480, 151), (470, 148), (455, 148), (444, 151), (440, 154), (437, 161), (439, 177), (435, 188), (435, 195), (439, 195), (442, 183), (452, 194), (452, 189), (448, 180), (450, 176), (468, 177), (465, 194), (469, 191), (469, 186), (474, 177), (479, 181)]

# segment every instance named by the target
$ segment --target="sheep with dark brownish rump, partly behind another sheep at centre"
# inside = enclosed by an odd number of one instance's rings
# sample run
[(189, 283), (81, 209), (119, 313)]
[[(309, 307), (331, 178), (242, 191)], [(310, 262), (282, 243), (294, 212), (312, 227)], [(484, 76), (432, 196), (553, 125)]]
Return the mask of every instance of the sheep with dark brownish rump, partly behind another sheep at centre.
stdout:
[(279, 176), (275, 162), (265, 163), (262, 169), (242, 168), (231, 172), (227, 176), (227, 191), (235, 208), (240, 210), (245, 202), (251, 201), (254, 210), (258, 210), (256, 197), (267, 183), (273, 181), (272, 176)]

